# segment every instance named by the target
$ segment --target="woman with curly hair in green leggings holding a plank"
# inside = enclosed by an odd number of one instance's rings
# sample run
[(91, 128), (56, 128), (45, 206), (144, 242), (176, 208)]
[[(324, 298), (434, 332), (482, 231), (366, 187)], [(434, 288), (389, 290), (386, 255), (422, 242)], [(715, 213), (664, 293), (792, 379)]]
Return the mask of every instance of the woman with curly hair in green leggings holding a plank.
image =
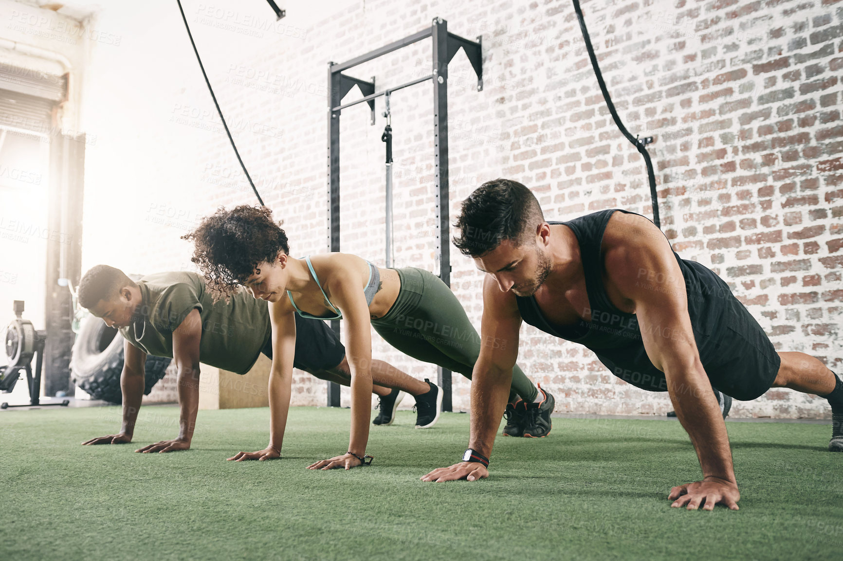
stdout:
[[(240, 452), (237, 460), (280, 457), (287, 423), (295, 316), (341, 319), (352, 372), (352, 430), (348, 451), (314, 462), (310, 469), (354, 468), (366, 462), (373, 377), (373, 327), (390, 345), (417, 360), (471, 377), (481, 339), (454, 293), (432, 273), (405, 267), (381, 269), (352, 254), (331, 253), (296, 259), (290, 256), (287, 234), (266, 207), (221, 208), (183, 236), (195, 243), (191, 260), (218, 297), (245, 286), (255, 298), (270, 302), (272, 367), (269, 382), (270, 444), (265, 450)], [(489, 341), (488, 345), (506, 345)], [(429, 390), (416, 395), (416, 428), (432, 426), (439, 416), (442, 390), (425, 380)], [(419, 382), (423, 383), (423, 382)], [(389, 385), (389, 384), (384, 384)], [(397, 396), (397, 390), (390, 397)], [(520, 397), (520, 399), (519, 399)], [(513, 369), (507, 435), (544, 436), (549, 427), (524, 424), (518, 414), (524, 403), (552, 400), (537, 389), (518, 366)], [(384, 401), (382, 398), (381, 407)], [(522, 405), (522, 407), (518, 407)], [(387, 403), (389, 406), (389, 403)], [(540, 434), (536, 434), (536, 433)], [(371, 462), (371, 460), (369, 460)]]

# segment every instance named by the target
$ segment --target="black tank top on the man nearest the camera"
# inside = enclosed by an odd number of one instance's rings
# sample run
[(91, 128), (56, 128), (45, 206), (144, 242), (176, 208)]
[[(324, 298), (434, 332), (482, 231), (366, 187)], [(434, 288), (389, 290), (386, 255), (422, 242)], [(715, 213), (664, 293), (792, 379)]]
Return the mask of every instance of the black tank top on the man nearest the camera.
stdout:
[[(615, 307), (603, 286), (604, 256), (600, 251), (600, 246), (603, 243), (606, 224), (616, 211), (636, 214), (620, 209), (608, 209), (579, 216), (569, 222), (548, 222), (548, 224), (564, 224), (571, 228), (577, 237), (581, 259), (583, 259), (591, 321), (580, 319), (573, 325), (553, 326), (541, 313), (534, 297), (516, 297), (518, 311), (526, 323), (545, 333), (585, 345), (593, 350), (604, 366), (609, 368), (615, 376), (642, 389), (665, 392), (668, 387), (664, 373), (653, 366), (647, 357), (636, 314), (622, 312)], [(681, 259), (675, 252), (674, 256), (685, 277), (691, 326), (694, 329), (701, 361), (706, 363), (716, 354), (717, 345), (711, 335), (717, 329), (722, 313), (733, 305), (734, 298), (728, 285), (707, 267), (695, 261)], [(652, 290), (666, 286), (663, 279), (649, 278), (652, 277), (652, 273), (643, 269), (639, 271), (638, 277), (637, 282), (645, 283), (652, 287)], [(658, 329), (662, 336), (672, 336), (669, 328), (654, 329)], [(665, 331), (668, 332), (665, 333)]]

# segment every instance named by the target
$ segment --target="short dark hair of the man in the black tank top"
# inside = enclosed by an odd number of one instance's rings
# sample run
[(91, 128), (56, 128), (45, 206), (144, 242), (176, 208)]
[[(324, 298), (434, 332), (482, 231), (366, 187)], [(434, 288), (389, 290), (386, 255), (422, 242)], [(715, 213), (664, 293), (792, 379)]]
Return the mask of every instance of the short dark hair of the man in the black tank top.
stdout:
[(505, 239), (516, 245), (529, 241), (535, 227), (545, 222), (533, 192), (512, 179), (486, 181), (463, 201), (454, 227), (454, 245), (464, 255), (480, 257)]

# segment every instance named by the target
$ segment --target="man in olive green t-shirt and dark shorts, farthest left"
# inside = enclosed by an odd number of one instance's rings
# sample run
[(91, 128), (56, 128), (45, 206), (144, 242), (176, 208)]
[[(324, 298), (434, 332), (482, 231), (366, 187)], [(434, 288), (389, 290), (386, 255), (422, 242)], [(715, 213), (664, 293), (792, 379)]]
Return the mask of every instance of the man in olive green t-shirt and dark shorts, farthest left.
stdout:
[[(171, 441), (160, 441), (137, 451), (187, 450), (199, 406), (199, 362), (245, 374), (261, 352), (272, 357), (267, 302), (240, 290), (213, 302), (205, 280), (196, 273), (167, 272), (146, 275), (137, 282), (109, 265), (96, 265), (79, 282), (78, 302), (125, 339), (121, 373), (123, 424), (120, 433), (100, 436), (83, 444), (121, 444), (132, 441), (144, 389), (146, 355), (169, 356), (178, 369), (181, 408), (180, 431)], [(293, 366), (330, 382), (350, 385), (346, 351), (336, 334), (318, 319), (297, 318)], [(391, 423), (398, 391), (419, 395), (429, 390), (384, 361), (373, 361), (374, 393), (382, 400), (379, 419)], [(390, 407), (384, 408), (384, 401)], [(388, 410), (384, 410), (388, 409)]]

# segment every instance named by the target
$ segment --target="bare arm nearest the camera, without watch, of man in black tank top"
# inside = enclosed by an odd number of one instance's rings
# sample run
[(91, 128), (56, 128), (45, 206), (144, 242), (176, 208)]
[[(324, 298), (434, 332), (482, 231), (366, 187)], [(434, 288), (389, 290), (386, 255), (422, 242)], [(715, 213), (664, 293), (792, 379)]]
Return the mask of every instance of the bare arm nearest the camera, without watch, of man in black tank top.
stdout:
[[(647, 357), (668, 383), (679, 422), (688, 432), (702, 482), (674, 488), (674, 506), (706, 510), (722, 502), (737, 509), (739, 494), (726, 425), (700, 361), (688, 314), (685, 278), (666, 238), (642, 216), (615, 213), (604, 235), (607, 286), (634, 307)], [(651, 274), (652, 273), (652, 274)], [(660, 281), (638, 281), (642, 278)], [(686, 489), (695, 485), (695, 489)], [(700, 489), (696, 489), (700, 488)], [(681, 494), (685, 497), (679, 498)]]

